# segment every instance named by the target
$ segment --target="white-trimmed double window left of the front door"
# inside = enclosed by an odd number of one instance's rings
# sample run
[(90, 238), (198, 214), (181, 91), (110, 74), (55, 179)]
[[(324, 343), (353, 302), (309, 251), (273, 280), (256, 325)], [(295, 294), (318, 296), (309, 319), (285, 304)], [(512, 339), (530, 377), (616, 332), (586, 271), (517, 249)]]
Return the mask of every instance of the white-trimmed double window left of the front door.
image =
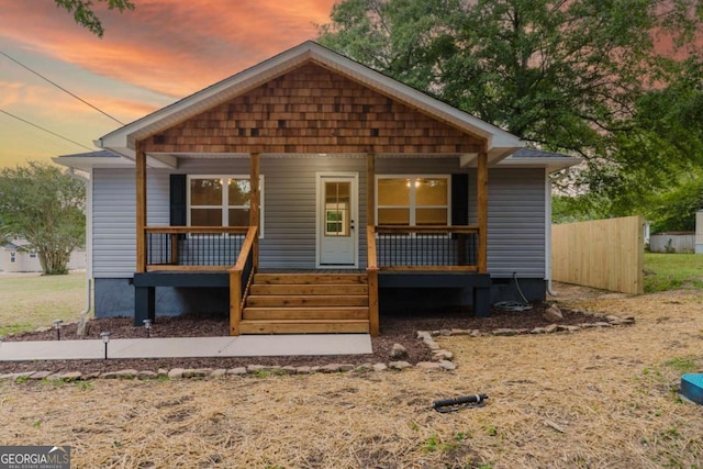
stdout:
[[(259, 220), (264, 220), (264, 177), (259, 179)], [(252, 205), (248, 176), (188, 176), (189, 226), (248, 226)], [(259, 222), (259, 236), (264, 226)]]

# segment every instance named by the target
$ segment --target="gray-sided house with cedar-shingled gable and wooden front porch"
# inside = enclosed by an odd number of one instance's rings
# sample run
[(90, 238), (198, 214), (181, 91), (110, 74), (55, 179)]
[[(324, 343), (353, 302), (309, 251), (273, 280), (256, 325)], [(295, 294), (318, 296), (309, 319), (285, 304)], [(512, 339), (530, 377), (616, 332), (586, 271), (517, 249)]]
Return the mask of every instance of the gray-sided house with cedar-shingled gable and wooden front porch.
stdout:
[(119, 129), (89, 171), (96, 315), (370, 332), (400, 308), (543, 300), (548, 175), (479, 119), (306, 42)]

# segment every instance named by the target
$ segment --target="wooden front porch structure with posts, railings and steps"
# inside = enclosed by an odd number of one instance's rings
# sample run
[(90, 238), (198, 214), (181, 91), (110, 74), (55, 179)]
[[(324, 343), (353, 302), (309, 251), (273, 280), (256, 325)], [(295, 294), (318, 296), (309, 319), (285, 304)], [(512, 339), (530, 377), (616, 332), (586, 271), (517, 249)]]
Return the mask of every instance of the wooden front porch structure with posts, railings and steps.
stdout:
[[(241, 160), (241, 157), (237, 157)], [(290, 269), (260, 267), (261, 158), (248, 159), (250, 203), (247, 226), (155, 226), (137, 223), (134, 275), (135, 325), (156, 316), (156, 288), (226, 288), (232, 335), (271, 333), (370, 333), (379, 331), (379, 289), (462, 288), (473, 292), (478, 315), (490, 311), (486, 268), (487, 158), (478, 158), (478, 224), (399, 226), (375, 223), (377, 156), (365, 160), (364, 220), (348, 221), (331, 235), (359, 230), (361, 261), (356, 265)], [(330, 156), (327, 155), (327, 158)], [(143, 159), (143, 164), (140, 164)], [(332, 157), (334, 159), (334, 157)], [(137, 153), (137, 221), (146, 220), (147, 156)], [(483, 163), (480, 163), (483, 161)], [(138, 175), (143, 171), (143, 175)], [(483, 174), (483, 176), (480, 176)], [(483, 189), (481, 189), (481, 186)], [(483, 208), (481, 209), (481, 204)], [(141, 214), (141, 216), (138, 216)], [(356, 225), (353, 227), (353, 223)], [(483, 226), (483, 227), (482, 227)], [(321, 231), (325, 232), (328, 227)], [(324, 233), (322, 234), (324, 236)], [(280, 267), (279, 267), (280, 266)]]

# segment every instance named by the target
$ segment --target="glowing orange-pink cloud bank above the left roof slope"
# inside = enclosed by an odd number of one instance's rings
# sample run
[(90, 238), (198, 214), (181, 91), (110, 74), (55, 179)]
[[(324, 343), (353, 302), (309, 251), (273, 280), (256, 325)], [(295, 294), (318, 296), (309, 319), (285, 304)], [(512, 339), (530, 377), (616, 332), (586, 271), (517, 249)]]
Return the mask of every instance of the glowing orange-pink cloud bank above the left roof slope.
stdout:
[[(8, 1), (14, 27), (1, 34), (96, 74), (174, 98), (190, 94), (316, 36), (334, 0), (137, 0), (136, 10), (100, 10), (98, 40), (52, 1)], [(21, 25), (21, 26), (20, 26)]]

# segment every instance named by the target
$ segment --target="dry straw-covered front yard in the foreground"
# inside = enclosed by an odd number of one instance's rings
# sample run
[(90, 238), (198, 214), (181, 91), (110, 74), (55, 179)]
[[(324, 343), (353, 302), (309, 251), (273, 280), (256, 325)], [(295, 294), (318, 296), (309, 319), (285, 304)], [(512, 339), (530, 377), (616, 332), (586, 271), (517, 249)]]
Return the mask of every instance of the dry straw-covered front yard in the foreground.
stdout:
[[(701, 468), (703, 293), (559, 301), (634, 326), (438, 339), (455, 372), (0, 383), (0, 442), (70, 445), (75, 467)], [(435, 399), (489, 394), (439, 414)]]

